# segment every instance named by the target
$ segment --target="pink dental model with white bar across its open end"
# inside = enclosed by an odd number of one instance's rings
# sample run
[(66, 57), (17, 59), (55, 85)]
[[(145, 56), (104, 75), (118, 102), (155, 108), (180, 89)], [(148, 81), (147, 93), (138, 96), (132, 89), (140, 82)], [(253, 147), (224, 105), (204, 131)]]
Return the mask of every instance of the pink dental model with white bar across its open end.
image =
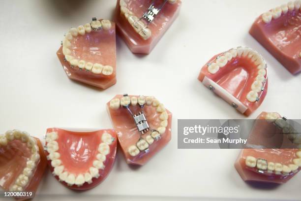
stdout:
[(215, 55), (202, 68), (198, 79), (247, 116), (259, 107), (268, 90), (267, 64), (248, 47)]

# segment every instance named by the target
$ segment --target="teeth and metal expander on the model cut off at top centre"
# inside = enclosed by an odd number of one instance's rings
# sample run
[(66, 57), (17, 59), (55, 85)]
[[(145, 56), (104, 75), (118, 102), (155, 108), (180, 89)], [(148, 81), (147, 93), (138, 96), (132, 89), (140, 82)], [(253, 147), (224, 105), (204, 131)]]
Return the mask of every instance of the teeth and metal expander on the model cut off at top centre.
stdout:
[[(136, 33), (138, 33), (144, 40), (147, 40), (151, 37), (151, 30), (148, 28), (148, 25), (151, 24), (155, 15), (159, 13), (162, 7), (166, 2), (174, 4), (177, 0), (164, 0), (160, 8), (155, 8), (153, 2), (148, 8), (148, 12), (144, 13), (141, 18), (138, 18), (132, 11), (127, 8), (127, 3), (129, 0), (120, 0), (120, 14), (124, 15), (128, 23), (132, 26)], [(146, 20), (148, 24), (144, 23), (142, 19)]]

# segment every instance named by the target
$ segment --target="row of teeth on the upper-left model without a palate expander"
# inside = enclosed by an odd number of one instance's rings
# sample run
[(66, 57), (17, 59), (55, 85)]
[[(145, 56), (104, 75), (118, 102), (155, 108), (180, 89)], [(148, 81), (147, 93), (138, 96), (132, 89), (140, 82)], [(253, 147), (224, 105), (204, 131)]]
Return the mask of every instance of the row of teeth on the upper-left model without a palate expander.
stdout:
[(92, 31), (99, 31), (104, 29), (105, 31), (110, 30), (112, 27), (111, 21), (109, 20), (97, 20), (96, 18), (92, 18), (91, 23), (87, 23), (84, 26), (79, 26), (76, 28), (71, 28), (70, 31), (65, 35), (65, 38), (61, 42), (62, 45), (62, 53), (65, 57), (65, 61), (67, 61), (71, 67), (78, 67), (80, 70), (86, 69), (86, 71), (91, 71), (94, 74), (103, 74), (103, 75), (112, 75), (114, 68), (111, 66), (105, 66), (102, 64), (92, 64), (89, 61), (78, 60), (71, 56), (71, 50), (69, 47), (71, 46), (71, 40), (73, 37), (77, 37), (78, 35), (85, 35), (86, 33), (90, 33)]

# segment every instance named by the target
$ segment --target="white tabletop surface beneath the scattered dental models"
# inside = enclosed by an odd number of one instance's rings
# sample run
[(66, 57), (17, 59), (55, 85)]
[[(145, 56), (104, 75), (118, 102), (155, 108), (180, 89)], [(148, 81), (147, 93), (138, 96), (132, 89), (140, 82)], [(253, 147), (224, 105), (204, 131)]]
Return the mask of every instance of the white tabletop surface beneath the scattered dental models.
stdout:
[[(96, 188), (76, 193), (47, 169), (35, 200), (301, 199), (301, 174), (276, 188), (255, 188), (234, 168), (240, 150), (178, 150), (177, 119), (245, 118), (198, 80), (215, 54), (240, 45), (269, 65), (262, 111), (299, 119), (301, 75), (282, 67), (248, 30), (257, 16), (286, 0), (183, 0), (181, 14), (148, 56), (117, 38), (117, 79), (98, 91), (71, 81), (56, 51), (71, 26), (110, 19), (115, 0), (0, 0), (0, 133), (19, 129), (42, 138), (49, 127), (112, 128), (106, 102), (116, 94), (153, 95), (173, 113), (172, 140), (147, 165), (131, 168), (120, 151)], [(141, 85), (140, 83), (145, 83)]]

